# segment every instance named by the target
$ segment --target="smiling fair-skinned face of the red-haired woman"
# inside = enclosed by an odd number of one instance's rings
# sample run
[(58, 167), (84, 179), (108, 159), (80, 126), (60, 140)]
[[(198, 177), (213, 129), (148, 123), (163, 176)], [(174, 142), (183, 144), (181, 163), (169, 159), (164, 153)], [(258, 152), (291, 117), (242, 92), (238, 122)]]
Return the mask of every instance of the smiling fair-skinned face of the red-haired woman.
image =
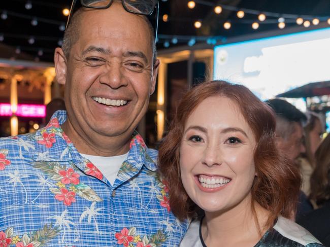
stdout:
[(188, 117), (180, 147), (183, 186), (206, 212), (250, 203), (256, 142), (238, 105), (206, 98)]

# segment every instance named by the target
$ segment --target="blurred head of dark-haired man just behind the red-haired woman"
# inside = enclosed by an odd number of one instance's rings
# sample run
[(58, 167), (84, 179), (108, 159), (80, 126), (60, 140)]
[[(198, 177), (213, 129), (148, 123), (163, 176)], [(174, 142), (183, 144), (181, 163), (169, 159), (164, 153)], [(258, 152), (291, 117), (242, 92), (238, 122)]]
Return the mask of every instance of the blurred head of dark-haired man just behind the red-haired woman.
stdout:
[(290, 160), (294, 161), (305, 152), (303, 144), (303, 122), (305, 114), (283, 99), (270, 99), (266, 103), (276, 114), (276, 146)]

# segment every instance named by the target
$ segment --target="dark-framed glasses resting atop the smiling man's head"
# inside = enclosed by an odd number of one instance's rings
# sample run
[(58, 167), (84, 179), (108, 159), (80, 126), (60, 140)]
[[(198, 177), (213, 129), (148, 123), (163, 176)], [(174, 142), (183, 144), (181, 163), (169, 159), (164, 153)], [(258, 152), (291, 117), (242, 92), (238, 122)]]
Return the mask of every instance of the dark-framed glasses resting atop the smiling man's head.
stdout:
[[(109, 8), (114, 0), (80, 0), (80, 3), (85, 8), (91, 9), (107, 9)], [(74, 8), (77, 0), (72, 1), (70, 8), (70, 14), (68, 17), (67, 26), (70, 23), (71, 16), (74, 12)], [(121, 0), (124, 9), (133, 14), (150, 16), (156, 8), (156, 23), (155, 23), (155, 42), (157, 41), (157, 30), (158, 30), (158, 15), (159, 15), (159, 2), (158, 0)]]

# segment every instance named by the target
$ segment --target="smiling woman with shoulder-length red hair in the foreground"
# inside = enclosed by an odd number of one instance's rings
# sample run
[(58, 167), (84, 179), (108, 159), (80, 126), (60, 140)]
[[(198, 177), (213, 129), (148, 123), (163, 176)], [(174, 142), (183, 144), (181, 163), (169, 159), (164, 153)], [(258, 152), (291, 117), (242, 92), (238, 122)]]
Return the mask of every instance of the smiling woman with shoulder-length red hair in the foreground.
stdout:
[(173, 213), (196, 219), (180, 246), (322, 246), (286, 219), (301, 179), (274, 138), (272, 111), (244, 86), (213, 81), (183, 97), (159, 148)]

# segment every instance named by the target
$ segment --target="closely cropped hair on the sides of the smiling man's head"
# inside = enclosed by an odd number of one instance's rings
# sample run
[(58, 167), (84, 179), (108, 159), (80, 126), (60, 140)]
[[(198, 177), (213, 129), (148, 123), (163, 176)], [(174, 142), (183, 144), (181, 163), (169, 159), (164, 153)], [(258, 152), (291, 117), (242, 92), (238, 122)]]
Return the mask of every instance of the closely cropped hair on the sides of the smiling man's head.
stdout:
[[(109, 7), (111, 8), (111, 6)], [(80, 23), (83, 17), (84, 13), (84, 7), (80, 7), (75, 13), (73, 13), (70, 23), (65, 29), (64, 37), (63, 37), (63, 44), (62, 44), (62, 50), (64, 53), (64, 56), (69, 58), (70, 51), (72, 46), (78, 41), (80, 37)], [(152, 24), (150, 23), (149, 19), (146, 16), (143, 16), (143, 19), (146, 21), (150, 35), (150, 44), (152, 46), (152, 52), (153, 52), (153, 64), (156, 62), (157, 57), (157, 51), (156, 51), (156, 44), (155, 44), (155, 34)]]

